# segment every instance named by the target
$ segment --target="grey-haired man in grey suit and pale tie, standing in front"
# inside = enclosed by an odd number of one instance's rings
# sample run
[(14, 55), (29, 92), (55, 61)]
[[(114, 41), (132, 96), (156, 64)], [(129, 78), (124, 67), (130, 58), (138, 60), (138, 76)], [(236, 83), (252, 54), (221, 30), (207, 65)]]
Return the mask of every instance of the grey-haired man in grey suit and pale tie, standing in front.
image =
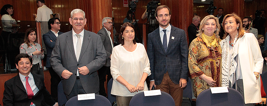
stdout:
[(50, 58), (52, 68), (64, 78), (63, 91), (68, 100), (77, 94), (98, 94), (97, 70), (106, 62), (100, 36), (84, 30), (83, 10), (74, 9), (70, 15), (69, 23), (73, 29), (57, 37)]

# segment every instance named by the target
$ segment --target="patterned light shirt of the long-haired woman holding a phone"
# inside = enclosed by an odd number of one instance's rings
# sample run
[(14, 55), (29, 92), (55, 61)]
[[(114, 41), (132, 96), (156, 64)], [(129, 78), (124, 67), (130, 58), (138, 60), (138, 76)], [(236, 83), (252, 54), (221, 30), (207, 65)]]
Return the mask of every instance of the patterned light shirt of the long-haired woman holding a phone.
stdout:
[(20, 53), (25, 53), (25, 54), (28, 54), (29, 56), (32, 57), (32, 64), (35, 65), (37, 63), (40, 64), (40, 68), (42, 68), (42, 59), (44, 58), (44, 54), (39, 54), (39, 55), (33, 55), (32, 56), (32, 53), (34, 51), (41, 51), (41, 45), (38, 44), (38, 43), (35, 43), (35, 45), (32, 45), (30, 44), (30, 47), (28, 47), (28, 45), (26, 43), (23, 43), (20, 45)]

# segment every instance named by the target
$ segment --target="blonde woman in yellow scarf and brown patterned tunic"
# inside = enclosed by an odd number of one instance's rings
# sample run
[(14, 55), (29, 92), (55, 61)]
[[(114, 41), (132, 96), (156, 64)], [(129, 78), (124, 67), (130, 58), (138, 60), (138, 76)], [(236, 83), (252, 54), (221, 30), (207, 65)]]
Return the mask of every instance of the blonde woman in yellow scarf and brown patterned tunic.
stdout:
[(220, 24), (213, 15), (200, 23), (197, 38), (189, 46), (188, 67), (193, 79), (194, 96), (210, 87), (221, 86)]

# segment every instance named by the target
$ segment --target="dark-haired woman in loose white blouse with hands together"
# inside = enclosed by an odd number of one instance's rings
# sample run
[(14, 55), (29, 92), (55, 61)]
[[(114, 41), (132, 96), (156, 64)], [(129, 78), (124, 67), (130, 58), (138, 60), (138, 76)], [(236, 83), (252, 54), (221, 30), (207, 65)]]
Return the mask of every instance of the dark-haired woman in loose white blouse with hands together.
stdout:
[(134, 40), (134, 26), (126, 22), (120, 29), (120, 45), (113, 48), (110, 72), (113, 77), (111, 94), (116, 95), (118, 106), (129, 106), (139, 91), (147, 91), (146, 78), (150, 63), (144, 45)]

